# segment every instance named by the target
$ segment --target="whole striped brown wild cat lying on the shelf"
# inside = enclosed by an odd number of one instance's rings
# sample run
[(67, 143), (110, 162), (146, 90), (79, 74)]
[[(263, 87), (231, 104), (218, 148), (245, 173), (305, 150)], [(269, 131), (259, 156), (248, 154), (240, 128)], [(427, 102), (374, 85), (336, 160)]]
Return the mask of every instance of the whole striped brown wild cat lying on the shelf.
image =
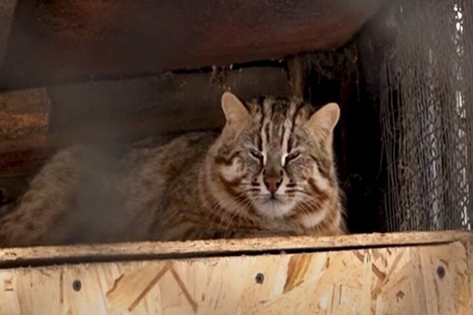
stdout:
[(333, 157), (339, 108), (226, 92), (220, 133), (120, 158), (72, 146), (0, 218), (0, 245), (344, 233)]

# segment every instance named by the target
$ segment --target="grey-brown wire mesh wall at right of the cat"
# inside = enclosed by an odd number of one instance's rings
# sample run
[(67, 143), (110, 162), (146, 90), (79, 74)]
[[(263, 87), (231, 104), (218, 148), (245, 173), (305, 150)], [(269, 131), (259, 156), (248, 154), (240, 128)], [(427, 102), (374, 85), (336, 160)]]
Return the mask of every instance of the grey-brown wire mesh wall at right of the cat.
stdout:
[(396, 4), (380, 82), (390, 231), (471, 229), (473, 2)]

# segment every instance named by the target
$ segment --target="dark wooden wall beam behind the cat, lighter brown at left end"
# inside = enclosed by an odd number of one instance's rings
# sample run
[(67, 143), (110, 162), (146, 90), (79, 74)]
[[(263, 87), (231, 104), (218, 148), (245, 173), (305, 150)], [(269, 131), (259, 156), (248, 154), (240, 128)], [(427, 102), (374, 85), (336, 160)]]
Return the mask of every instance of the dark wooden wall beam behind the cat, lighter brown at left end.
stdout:
[[(290, 95), (283, 68), (163, 74), (0, 94), (0, 177), (33, 174), (54, 148), (111, 144), (224, 124), (220, 97)], [(51, 102), (51, 109), (49, 102)]]

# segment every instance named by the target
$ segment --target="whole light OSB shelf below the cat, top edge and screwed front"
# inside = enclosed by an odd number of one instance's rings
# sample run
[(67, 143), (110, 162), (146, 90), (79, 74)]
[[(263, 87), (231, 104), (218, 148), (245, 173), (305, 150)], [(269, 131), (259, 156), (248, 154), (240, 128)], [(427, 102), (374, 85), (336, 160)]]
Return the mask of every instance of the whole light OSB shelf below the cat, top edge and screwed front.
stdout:
[(0, 249), (0, 314), (471, 314), (471, 236)]

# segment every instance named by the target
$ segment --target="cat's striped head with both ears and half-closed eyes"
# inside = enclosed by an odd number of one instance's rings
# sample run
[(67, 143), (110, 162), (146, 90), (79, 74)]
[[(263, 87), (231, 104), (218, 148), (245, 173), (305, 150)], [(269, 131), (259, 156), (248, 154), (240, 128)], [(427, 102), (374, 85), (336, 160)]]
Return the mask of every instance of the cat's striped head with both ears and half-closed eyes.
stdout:
[(243, 104), (226, 92), (222, 108), (227, 123), (210, 153), (214, 180), (226, 191), (223, 207), (250, 207), (268, 219), (313, 217), (328, 196), (338, 198), (332, 154), (336, 103), (318, 111), (296, 98), (260, 97)]

